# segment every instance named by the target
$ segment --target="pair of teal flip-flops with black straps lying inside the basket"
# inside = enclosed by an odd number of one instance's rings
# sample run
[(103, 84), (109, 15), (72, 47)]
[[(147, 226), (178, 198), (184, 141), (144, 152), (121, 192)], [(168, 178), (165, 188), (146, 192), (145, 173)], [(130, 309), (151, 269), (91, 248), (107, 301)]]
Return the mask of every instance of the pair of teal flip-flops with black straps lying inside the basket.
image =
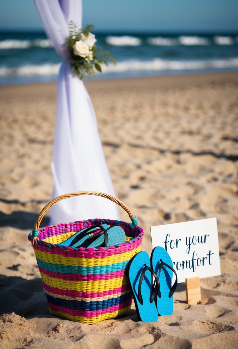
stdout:
[(108, 224), (94, 225), (84, 228), (67, 240), (61, 242), (60, 246), (70, 247), (108, 247), (122, 244), (126, 241), (124, 230), (118, 225), (110, 227)]

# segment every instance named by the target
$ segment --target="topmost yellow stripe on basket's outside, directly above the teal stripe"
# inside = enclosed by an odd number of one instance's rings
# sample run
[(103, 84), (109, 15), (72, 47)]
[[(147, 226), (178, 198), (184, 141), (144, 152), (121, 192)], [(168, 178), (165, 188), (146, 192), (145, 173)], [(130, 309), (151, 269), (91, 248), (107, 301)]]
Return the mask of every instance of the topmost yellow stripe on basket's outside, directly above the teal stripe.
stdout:
[(141, 246), (136, 247), (132, 251), (127, 251), (120, 254), (113, 254), (105, 258), (78, 258), (78, 257), (64, 257), (60, 254), (51, 254), (35, 250), (36, 258), (43, 262), (61, 265), (72, 265), (81, 267), (100, 267), (102, 265), (111, 265), (114, 263), (125, 262), (130, 260), (137, 252), (140, 252)]

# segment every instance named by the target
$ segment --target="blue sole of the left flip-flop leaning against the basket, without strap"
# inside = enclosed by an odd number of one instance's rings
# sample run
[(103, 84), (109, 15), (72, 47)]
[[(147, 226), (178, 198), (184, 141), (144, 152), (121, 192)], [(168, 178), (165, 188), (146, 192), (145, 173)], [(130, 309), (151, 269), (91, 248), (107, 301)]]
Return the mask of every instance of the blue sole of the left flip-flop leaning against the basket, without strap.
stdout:
[(155, 302), (150, 303), (151, 273), (148, 270), (146, 270), (141, 284), (143, 304), (138, 299), (139, 280), (145, 264), (150, 266), (150, 258), (146, 251), (141, 251), (129, 261), (127, 265), (127, 276), (131, 285), (138, 320), (156, 322), (158, 320), (158, 312)]

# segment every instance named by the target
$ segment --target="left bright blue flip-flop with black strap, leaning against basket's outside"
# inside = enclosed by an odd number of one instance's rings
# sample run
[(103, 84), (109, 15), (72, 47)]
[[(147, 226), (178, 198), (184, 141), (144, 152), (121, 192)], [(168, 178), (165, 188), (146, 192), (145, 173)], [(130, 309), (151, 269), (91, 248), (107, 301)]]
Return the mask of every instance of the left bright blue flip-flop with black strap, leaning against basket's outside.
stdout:
[[(152, 275), (155, 284), (152, 286)], [(127, 265), (127, 276), (135, 302), (135, 309), (139, 321), (155, 322), (158, 312), (154, 302), (159, 291), (157, 275), (150, 268), (150, 258), (146, 251), (134, 255)]]

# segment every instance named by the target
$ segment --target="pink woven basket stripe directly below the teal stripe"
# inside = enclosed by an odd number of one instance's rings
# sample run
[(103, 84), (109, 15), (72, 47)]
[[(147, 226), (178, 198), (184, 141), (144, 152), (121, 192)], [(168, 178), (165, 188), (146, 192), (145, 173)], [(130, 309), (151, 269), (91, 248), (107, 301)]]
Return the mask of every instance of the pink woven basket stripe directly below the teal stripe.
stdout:
[(98, 280), (109, 280), (114, 279), (116, 277), (121, 277), (125, 275), (125, 269), (124, 270), (117, 270), (116, 272), (106, 273), (106, 274), (87, 274), (87, 275), (81, 275), (81, 274), (61, 274), (61, 273), (54, 273), (49, 272), (48, 270), (42, 269), (39, 267), (40, 273), (43, 273), (49, 277), (53, 277), (54, 279), (62, 279), (67, 281), (98, 281)]

